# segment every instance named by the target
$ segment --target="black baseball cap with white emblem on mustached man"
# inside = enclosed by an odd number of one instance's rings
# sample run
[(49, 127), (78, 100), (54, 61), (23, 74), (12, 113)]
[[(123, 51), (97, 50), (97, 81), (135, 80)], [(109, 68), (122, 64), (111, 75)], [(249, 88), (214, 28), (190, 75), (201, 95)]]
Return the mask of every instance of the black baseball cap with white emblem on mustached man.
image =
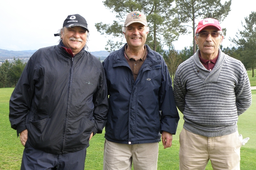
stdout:
[[(64, 26), (66, 28), (70, 28), (72, 26), (82, 26), (83, 28), (85, 28), (89, 32), (89, 29), (87, 28), (87, 22), (86, 22), (85, 18), (83, 18), (79, 14), (69, 15), (63, 22), (63, 27)], [(59, 36), (59, 34), (54, 34), (54, 36)]]

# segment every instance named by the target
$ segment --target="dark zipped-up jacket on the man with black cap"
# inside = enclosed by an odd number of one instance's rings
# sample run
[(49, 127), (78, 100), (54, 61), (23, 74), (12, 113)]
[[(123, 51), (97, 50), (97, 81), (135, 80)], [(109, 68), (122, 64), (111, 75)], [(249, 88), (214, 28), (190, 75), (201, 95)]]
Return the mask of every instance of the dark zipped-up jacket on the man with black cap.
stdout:
[(108, 106), (99, 59), (84, 49), (71, 57), (61, 46), (30, 57), (10, 98), (11, 127), (27, 129), (30, 145), (54, 154), (87, 147), (91, 133), (102, 132)]

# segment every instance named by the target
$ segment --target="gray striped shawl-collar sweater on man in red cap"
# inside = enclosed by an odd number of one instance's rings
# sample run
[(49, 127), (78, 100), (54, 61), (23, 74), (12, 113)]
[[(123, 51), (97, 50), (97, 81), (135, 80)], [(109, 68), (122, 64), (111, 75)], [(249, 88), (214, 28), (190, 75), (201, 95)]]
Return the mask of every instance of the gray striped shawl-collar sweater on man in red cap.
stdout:
[(212, 71), (199, 60), (199, 50), (181, 63), (174, 78), (174, 98), (192, 133), (223, 136), (237, 130), (238, 116), (251, 105), (251, 88), (242, 62), (219, 49)]

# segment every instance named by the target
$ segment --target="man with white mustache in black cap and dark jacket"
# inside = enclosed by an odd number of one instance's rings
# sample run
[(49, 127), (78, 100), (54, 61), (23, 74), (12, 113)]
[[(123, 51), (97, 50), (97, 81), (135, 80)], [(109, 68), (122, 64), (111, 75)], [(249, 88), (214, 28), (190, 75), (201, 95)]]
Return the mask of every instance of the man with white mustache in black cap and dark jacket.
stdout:
[(84, 50), (87, 22), (69, 15), (58, 45), (29, 59), (10, 98), (11, 127), (24, 148), (22, 170), (83, 170), (86, 148), (106, 123), (103, 66)]

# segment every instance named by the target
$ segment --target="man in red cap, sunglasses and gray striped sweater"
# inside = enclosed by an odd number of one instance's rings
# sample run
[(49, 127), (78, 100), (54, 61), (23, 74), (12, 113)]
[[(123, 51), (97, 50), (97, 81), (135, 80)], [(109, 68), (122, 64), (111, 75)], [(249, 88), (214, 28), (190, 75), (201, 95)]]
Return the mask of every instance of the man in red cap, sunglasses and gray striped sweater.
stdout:
[(224, 54), (220, 23), (198, 23), (197, 52), (178, 67), (174, 98), (183, 113), (180, 169), (240, 169), (240, 147), (248, 138), (237, 131), (238, 116), (251, 105), (251, 89), (242, 62)]

